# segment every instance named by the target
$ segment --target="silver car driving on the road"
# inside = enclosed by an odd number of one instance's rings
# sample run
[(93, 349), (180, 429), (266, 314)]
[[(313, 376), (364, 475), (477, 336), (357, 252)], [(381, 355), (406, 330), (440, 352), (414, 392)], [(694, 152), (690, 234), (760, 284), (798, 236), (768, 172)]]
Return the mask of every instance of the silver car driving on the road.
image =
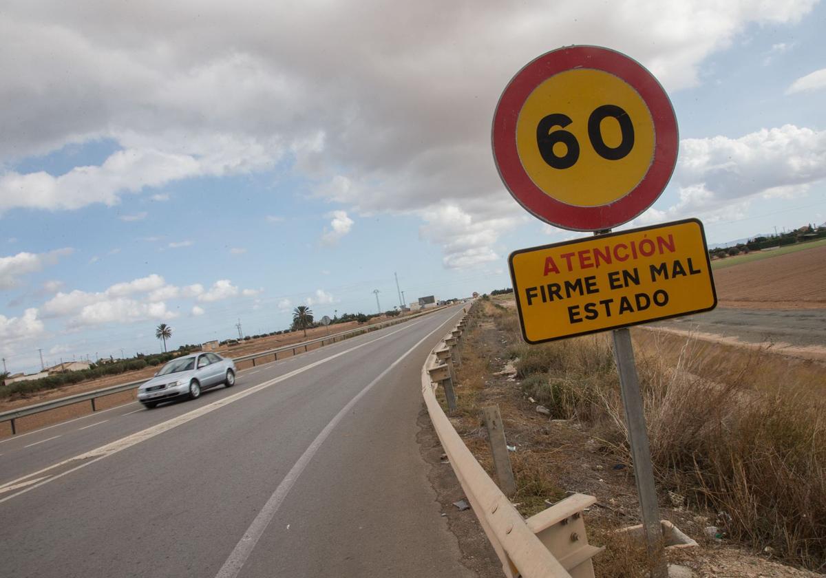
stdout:
[(148, 408), (179, 397), (194, 400), (201, 392), (235, 385), (235, 363), (216, 353), (193, 353), (173, 359), (138, 388), (138, 400)]

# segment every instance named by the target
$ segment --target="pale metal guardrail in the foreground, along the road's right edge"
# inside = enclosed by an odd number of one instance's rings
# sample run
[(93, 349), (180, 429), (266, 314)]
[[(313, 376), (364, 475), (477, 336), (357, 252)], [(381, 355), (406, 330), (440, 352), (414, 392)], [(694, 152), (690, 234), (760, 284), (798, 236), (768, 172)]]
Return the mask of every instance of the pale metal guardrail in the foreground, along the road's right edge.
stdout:
[(433, 348), (421, 370), (422, 396), (450, 465), (502, 562), (505, 576), (593, 578), (591, 557), (602, 548), (588, 544), (582, 511), (595, 504), (596, 498), (574, 494), (523, 519), (473, 457), (436, 399), (440, 383), (453, 390), (453, 360), (463, 341), (467, 317), (465, 310), (456, 329)]

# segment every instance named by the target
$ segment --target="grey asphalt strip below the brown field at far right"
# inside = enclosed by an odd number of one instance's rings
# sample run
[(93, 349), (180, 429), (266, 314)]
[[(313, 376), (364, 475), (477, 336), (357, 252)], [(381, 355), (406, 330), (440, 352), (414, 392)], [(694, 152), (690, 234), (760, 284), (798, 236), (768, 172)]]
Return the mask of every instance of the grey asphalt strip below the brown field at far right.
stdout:
[(788, 343), (797, 347), (826, 346), (824, 309), (734, 309), (718, 307), (652, 324), (684, 331), (736, 337), (747, 343)]

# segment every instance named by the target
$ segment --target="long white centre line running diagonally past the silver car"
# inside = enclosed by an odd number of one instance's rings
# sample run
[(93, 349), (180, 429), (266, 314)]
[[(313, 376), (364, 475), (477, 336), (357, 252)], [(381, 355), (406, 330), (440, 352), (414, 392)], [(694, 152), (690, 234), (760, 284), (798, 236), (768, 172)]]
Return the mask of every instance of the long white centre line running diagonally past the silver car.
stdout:
[[(339, 353), (335, 353), (335, 354), (331, 355), (329, 358), (323, 358), (323, 359), (318, 360), (317, 362), (309, 363), (304, 367), (298, 367), (297, 369), (293, 369), (292, 372), (287, 372), (284, 375), (279, 376), (279, 377), (273, 377), (273, 379), (268, 380), (268, 381), (263, 381), (262, 383), (259, 383), (259, 385), (252, 386), (247, 390), (239, 391), (238, 393), (236, 393), (232, 396), (227, 396), (227, 397), (225, 397), (221, 400), (213, 401), (209, 405), (204, 405), (202, 407), (197, 408), (197, 410), (192, 410), (192, 411), (190, 411), (186, 414), (178, 415), (178, 416), (176, 416), (172, 419), (169, 419), (165, 422), (162, 422), (160, 424), (155, 424), (150, 428), (144, 429), (144, 430), (142, 430), (140, 432), (137, 432), (135, 434), (128, 435), (128, 436), (126, 436), (126, 438), (121, 438), (121, 439), (118, 439), (118, 440), (116, 440), (112, 443), (107, 443), (106, 445), (103, 445), (100, 448), (95, 448), (95, 449), (93, 449), (89, 452), (82, 453), (82, 454), (80, 454), (78, 456), (75, 456), (75, 457), (69, 457), (69, 459), (65, 459), (62, 462), (58, 462), (58, 463), (53, 464), (49, 467), (44, 467), (44, 468), (42, 468), (38, 471), (33, 471), (31, 474), (28, 474), (26, 476), (21, 476), (21, 477), (17, 478), (17, 480), (9, 481), (6, 484), (3, 484), (2, 486), (0, 486), (0, 490), (4, 490), (8, 486), (12, 486), (14, 484), (19, 484), (21, 481), (25, 481), (28, 478), (31, 478), (33, 476), (40, 476), (40, 474), (44, 474), (47, 471), (51, 471), (51, 470), (55, 470), (55, 469), (60, 468), (60, 467), (68, 466), (72, 462), (78, 462), (79, 463), (78, 466), (70, 467), (68, 470), (61, 471), (59, 474), (57, 474), (55, 476), (51, 476), (50, 478), (48, 478), (46, 480), (43, 480), (43, 481), (40, 481), (36, 484), (33, 484), (32, 486), (28, 486), (25, 489), (20, 490), (15, 494), (7, 495), (5, 498), (0, 499), (0, 504), (2, 504), (3, 502), (5, 502), (7, 500), (11, 500), (12, 498), (16, 498), (18, 495), (26, 494), (26, 492), (34, 490), (35, 488), (39, 488), (40, 486), (44, 486), (45, 484), (48, 484), (51, 481), (55, 481), (55, 480), (58, 480), (59, 478), (61, 478), (63, 476), (67, 476), (70, 473), (72, 473), (74, 471), (78, 471), (79, 469), (81, 469), (83, 467), (91, 466), (93, 463), (99, 462), (100, 460), (102, 460), (105, 457), (112, 456), (112, 455), (116, 454), (117, 452), (121, 452), (122, 450), (125, 450), (126, 448), (131, 448), (132, 446), (134, 446), (138, 443), (145, 442), (147, 439), (154, 438), (156, 435), (163, 434), (164, 432), (169, 431), (170, 429), (177, 428), (178, 425), (186, 424), (186, 423), (192, 421), (192, 419), (199, 418), (202, 415), (207, 415), (207, 414), (211, 413), (212, 411), (215, 411), (215, 410), (217, 410), (221, 407), (224, 407), (225, 405), (230, 405), (231, 403), (233, 403), (237, 400), (243, 399), (246, 396), (251, 396), (252, 394), (254, 394), (258, 391), (261, 391), (263, 389), (266, 389), (269, 386), (273, 386), (276, 383), (280, 383), (281, 381), (286, 381), (287, 379), (289, 379), (291, 377), (295, 377), (300, 373), (309, 371), (313, 367), (318, 367), (318, 366), (322, 365), (323, 363), (332, 361), (335, 358), (340, 358), (342, 355), (346, 355), (347, 353), (351, 353), (351, 352), (355, 351), (356, 349), (363, 348), (363, 347), (369, 345), (370, 343), (376, 343), (377, 341), (381, 341), (382, 339), (387, 339), (388, 337), (390, 337), (392, 335), (395, 335), (395, 334), (399, 333), (400, 331), (404, 331), (405, 329), (410, 329), (411, 327), (413, 327), (415, 325), (419, 325), (420, 323), (422, 323), (422, 321), (424, 321), (424, 320), (418, 320), (418, 321), (414, 321), (410, 324), (404, 324), (404, 326), (401, 327), (401, 329), (396, 329), (396, 331), (392, 331), (391, 333), (388, 333), (386, 335), (382, 335), (381, 337), (378, 337), (376, 339), (372, 339), (370, 341), (360, 343), (358, 345), (355, 345), (352, 348), (344, 349), (344, 351), (341, 351)], [(442, 324), (442, 325), (444, 325), (444, 324)], [(439, 327), (441, 327), (442, 325), (439, 325)], [(60, 436), (55, 436), (55, 438), (59, 438), (59, 437)], [(49, 439), (54, 439), (54, 438), (49, 438)], [(49, 441), (49, 440), (44, 439), (40, 442), (36, 442), (36, 443), (31, 444), (31, 445), (36, 445), (37, 443), (43, 443), (43, 442), (47, 442), (47, 441)], [(26, 446), (26, 448), (28, 448), (28, 446)]]

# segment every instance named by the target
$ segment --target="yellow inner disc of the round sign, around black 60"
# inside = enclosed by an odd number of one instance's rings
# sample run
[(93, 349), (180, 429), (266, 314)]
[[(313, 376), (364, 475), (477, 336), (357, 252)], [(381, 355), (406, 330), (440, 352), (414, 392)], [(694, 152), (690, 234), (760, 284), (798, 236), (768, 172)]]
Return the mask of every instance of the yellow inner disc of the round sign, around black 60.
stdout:
[[(633, 127), (634, 144), (627, 153), (631, 142), (628, 126), (623, 130), (616, 113), (614, 116), (597, 113), (596, 118), (601, 121), (592, 124), (598, 130), (591, 130), (589, 135), (591, 115), (597, 109), (605, 111), (606, 105), (612, 111), (619, 109), (626, 113), (628, 118), (623, 121)], [(544, 132), (553, 140), (562, 140), (549, 147), (552, 153), (546, 150), (545, 154), (563, 159), (554, 161), (559, 165), (570, 164), (565, 168), (548, 164), (539, 148), (537, 129), (549, 115), (570, 119), (567, 126), (556, 124), (545, 127)], [(553, 117), (559, 118), (562, 117)], [(548, 125), (549, 121), (544, 124)], [(573, 146), (578, 145), (578, 156), (565, 144), (571, 137), (558, 133), (560, 130), (576, 139)], [(530, 93), (516, 122), (516, 148), (525, 172), (549, 197), (574, 206), (608, 205), (633, 191), (648, 173), (654, 157), (654, 124), (643, 98), (623, 80), (602, 70), (566, 70), (548, 78)], [(605, 149), (610, 150), (606, 153)], [(599, 150), (607, 156), (623, 156), (606, 159)], [(571, 163), (573, 159), (575, 162)]]

